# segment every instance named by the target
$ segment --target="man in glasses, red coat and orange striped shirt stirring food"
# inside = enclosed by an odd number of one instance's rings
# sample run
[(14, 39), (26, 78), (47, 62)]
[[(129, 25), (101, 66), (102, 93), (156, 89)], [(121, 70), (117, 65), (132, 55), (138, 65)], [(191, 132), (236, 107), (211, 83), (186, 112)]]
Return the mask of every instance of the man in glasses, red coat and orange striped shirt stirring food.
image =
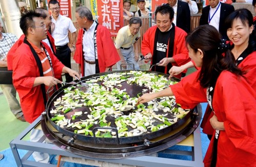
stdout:
[[(80, 77), (76, 71), (60, 63), (50, 47), (41, 42), (47, 38), (47, 29), (39, 13), (28, 11), (20, 18), (19, 26), (26, 37), (13, 55), (12, 79), (24, 117), (32, 123), (46, 108), (47, 90), (51, 92), (53, 86), (61, 84), (57, 78), (62, 72)], [(43, 135), (41, 130), (32, 129), (30, 141), (37, 142)], [(33, 157), (38, 162), (49, 161), (48, 154), (34, 152)]]

